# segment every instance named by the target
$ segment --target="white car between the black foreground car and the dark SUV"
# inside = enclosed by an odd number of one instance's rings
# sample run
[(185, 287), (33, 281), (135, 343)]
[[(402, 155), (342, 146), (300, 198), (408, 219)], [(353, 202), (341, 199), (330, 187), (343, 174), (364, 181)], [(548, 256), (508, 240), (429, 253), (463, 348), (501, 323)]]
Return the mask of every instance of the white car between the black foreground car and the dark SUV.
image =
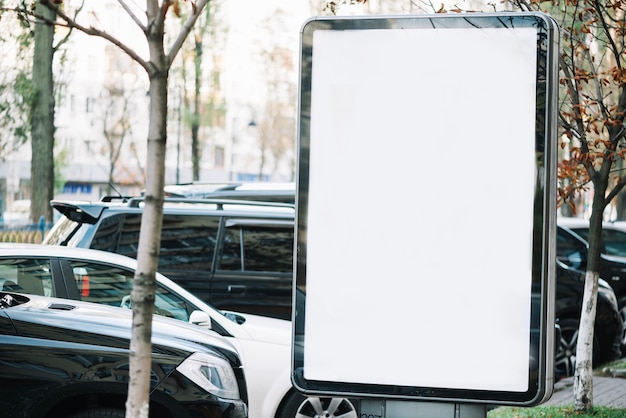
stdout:
[[(131, 308), (136, 266), (134, 259), (104, 251), (0, 244), (0, 289)], [(156, 279), (157, 314), (211, 329), (237, 349), (246, 373), (250, 418), (312, 417), (305, 415), (307, 408), (330, 402), (307, 398), (291, 385), (291, 322), (222, 312), (165, 276), (157, 273)], [(356, 414), (356, 401), (334, 402), (344, 413)]]

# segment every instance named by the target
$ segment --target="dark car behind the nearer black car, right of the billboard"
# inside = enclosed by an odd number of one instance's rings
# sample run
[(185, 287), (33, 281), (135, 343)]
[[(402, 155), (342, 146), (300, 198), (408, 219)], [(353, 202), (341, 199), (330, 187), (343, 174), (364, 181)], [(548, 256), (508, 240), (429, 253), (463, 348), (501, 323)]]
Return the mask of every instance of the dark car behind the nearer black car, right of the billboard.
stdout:
[[(579, 264), (581, 270), (587, 265), (589, 220), (582, 218), (558, 218), (560, 252), (569, 257), (569, 262)], [(583, 243), (581, 244), (581, 238)], [(583, 248), (584, 247), (584, 248)], [(626, 223), (602, 223), (602, 250), (600, 254), (600, 277), (609, 282), (617, 303), (626, 320)], [(576, 253), (580, 252), (580, 256)], [(578, 260), (576, 257), (579, 257)]]

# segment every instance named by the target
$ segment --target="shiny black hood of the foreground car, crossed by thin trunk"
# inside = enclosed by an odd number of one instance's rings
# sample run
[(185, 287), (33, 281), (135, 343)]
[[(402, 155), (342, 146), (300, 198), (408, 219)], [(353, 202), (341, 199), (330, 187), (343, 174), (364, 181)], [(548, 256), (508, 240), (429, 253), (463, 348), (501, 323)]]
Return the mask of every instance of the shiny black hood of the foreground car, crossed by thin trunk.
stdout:
[[(0, 293), (4, 296), (5, 293)], [(63, 339), (78, 344), (97, 344), (127, 350), (132, 330), (132, 310), (74, 300), (11, 294), (21, 303), (5, 308), (21, 336)], [(234, 346), (213, 331), (184, 322), (153, 316), (154, 353), (186, 357), (212, 350), (239, 365)]]

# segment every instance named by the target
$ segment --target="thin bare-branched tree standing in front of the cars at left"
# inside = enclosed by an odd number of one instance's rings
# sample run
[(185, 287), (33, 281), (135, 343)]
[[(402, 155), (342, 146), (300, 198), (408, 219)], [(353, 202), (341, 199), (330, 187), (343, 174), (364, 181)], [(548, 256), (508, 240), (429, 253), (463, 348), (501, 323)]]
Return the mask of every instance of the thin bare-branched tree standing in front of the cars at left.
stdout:
[[(163, 220), (163, 186), (165, 182), (165, 151), (167, 141), (167, 83), (169, 70), (183, 42), (204, 10), (208, 0), (146, 0), (145, 10), (125, 0), (117, 0), (130, 21), (143, 33), (148, 57), (142, 57), (121, 37), (95, 24), (83, 24), (65, 14), (58, 6), (62, 0), (40, 0), (56, 14), (57, 24), (79, 30), (90, 36), (103, 38), (120, 48), (147, 73), (150, 87), (150, 109), (147, 140), (147, 173), (145, 206), (141, 220), (137, 270), (133, 282), (132, 338), (130, 342), (130, 382), (126, 401), (128, 418), (148, 417), (152, 314), (154, 313), (155, 274), (159, 257), (161, 223)], [(183, 7), (189, 13), (178, 35), (166, 49), (165, 20), (171, 13), (181, 14)], [(92, 19), (94, 21), (94, 19)], [(95, 19), (97, 21), (97, 19)]]

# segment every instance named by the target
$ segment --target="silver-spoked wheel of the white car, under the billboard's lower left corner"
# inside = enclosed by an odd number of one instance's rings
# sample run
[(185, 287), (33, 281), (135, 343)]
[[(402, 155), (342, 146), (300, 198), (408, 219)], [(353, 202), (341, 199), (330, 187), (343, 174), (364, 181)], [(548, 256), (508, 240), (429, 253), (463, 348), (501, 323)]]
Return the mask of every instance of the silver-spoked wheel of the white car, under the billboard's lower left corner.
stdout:
[(341, 417), (358, 418), (354, 403), (347, 398), (306, 397), (292, 392), (283, 403), (276, 418)]

